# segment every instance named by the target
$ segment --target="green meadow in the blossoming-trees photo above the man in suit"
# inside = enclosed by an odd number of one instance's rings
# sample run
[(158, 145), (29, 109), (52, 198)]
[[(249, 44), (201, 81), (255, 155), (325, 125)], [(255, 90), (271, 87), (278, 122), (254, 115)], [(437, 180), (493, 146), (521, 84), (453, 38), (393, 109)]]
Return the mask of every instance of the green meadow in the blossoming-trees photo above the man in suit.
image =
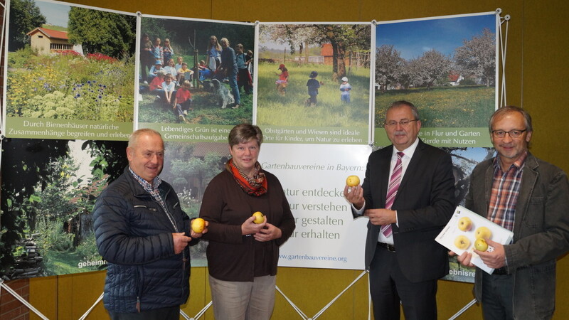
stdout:
[(494, 112), (493, 87), (433, 87), (376, 92), (376, 128), (383, 127), (385, 110), (394, 101), (418, 107), (422, 127), (486, 127)]

